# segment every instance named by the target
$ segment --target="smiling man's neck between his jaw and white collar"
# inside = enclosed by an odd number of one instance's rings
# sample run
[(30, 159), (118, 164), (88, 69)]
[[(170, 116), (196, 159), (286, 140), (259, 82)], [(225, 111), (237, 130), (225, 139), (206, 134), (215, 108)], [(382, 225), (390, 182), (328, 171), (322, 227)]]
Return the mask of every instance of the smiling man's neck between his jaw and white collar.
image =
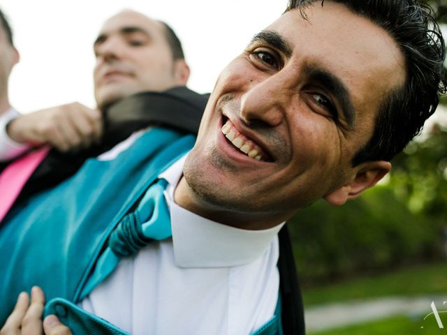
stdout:
[(174, 200), (180, 207), (204, 218), (245, 230), (272, 228), (290, 217), (289, 214), (237, 212), (207, 204), (197, 198), (184, 177), (180, 179), (177, 188), (175, 188)]

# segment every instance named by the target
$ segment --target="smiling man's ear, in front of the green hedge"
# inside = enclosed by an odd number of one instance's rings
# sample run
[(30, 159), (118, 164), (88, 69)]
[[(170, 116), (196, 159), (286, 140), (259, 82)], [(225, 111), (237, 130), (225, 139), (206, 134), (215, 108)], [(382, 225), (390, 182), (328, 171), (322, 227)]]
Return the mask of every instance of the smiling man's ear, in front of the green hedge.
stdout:
[(391, 163), (386, 161), (361, 164), (353, 181), (325, 195), (323, 199), (330, 204), (340, 206), (349, 199), (357, 198), (367, 188), (376, 185), (390, 170)]

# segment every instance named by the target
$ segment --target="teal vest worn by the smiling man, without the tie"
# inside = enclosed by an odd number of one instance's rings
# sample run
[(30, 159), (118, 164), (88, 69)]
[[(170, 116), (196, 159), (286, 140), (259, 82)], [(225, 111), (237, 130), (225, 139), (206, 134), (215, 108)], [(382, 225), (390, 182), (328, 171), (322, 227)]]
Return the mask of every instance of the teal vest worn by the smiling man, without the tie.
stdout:
[[(73, 177), (15, 207), (0, 225), (0, 325), (20, 292), (33, 285), (73, 334), (126, 334), (75, 306), (98, 283), (96, 261), (119, 220), (159, 174), (195, 142), (192, 135), (153, 128), (116, 158), (89, 158)], [(282, 334), (277, 315), (254, 334)]]

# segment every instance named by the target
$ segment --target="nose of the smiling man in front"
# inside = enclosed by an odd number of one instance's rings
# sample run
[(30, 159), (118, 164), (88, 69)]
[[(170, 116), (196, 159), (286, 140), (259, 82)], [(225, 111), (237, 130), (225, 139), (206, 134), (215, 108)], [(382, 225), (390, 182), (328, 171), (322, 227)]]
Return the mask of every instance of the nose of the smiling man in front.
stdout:
[(261, 121), (274, 127), (284, 121), (291, 92), (279, 78), (253, 84), (242, 96), (240, 117), (246, 124)]

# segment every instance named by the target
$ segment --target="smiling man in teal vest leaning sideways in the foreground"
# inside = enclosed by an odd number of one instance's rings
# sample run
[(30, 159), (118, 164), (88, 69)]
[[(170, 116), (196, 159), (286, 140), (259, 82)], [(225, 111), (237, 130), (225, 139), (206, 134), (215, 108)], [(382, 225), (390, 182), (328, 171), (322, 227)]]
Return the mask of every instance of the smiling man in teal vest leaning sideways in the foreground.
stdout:
[[(10, 216), (2, 295), (11, 305), (41, 285), (45, 314), (75, 334), (302, 334), (281, 323), (291, 311), (281, 311), (290, 283), (277, 271), (278, 231), (300, 208), (343, 204), (390, 170), (437, 107), (443, 61), (418, 1), (292, 0), (223, 70), (194, 145), (162, 129), (133, 135), (131, 154), (87, 162)], [(104, 169), (86, 178), (103, 161), (121, 184)], [(94, 194), (66, 195), (85, 184)], [(6, 329), (40, 322), (43, 295), (32, 299), (27, 309), (20, 298)]]

